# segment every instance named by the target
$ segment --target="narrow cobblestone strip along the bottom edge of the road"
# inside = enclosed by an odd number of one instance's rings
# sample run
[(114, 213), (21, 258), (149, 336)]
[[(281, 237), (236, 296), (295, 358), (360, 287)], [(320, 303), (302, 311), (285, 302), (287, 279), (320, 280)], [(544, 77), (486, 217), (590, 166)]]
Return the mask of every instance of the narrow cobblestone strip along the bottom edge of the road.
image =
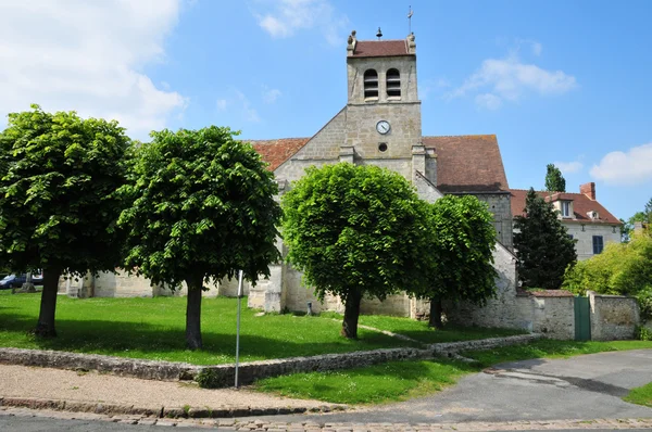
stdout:
[[(595, 419), (595, 420), (551, 420), (551, 421), (506, 421), (506, 422), (465, 422), (465, 423), (317, 423), (315, 421), (274, 422), (260, 419), (186, 419), (156, 418), (147, 416), (104, 416), (91, 412), (68, 412), (52, 410), (33, 410), (26, 408), (0, 407), (0, 429), (9, 424), (12, 417), (36, 417), (52, 420), (83, 420), (96, 423), (88, 428), (68, 428), (58, 430), (138, 430), (134, 425), (176, 427), (189, 430), (217, 429), (240, 432), (430, 432), (430, 431), (539, 431), (539, 430), (648, 430), (652, 429), (652, 419)], [(327, 419), (327, 418), (326, 418)], [(115, 423), (117, 428), (104, 428), (97, 423)], [(20, 428), (20, 427), (18, 427)], [(7, 428), (10, 430), (9, 428)], [(22, 430), (22, 429), (11, 429)], [(32, 429), (43, 430), (43, 429)], [(48, 428), (53, 430), (53, 428)]]

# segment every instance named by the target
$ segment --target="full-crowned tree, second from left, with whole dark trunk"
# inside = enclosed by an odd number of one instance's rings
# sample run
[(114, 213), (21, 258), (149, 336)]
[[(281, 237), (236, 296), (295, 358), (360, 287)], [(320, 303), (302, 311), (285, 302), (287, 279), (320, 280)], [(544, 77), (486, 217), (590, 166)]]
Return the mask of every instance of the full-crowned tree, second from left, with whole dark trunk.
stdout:
[(255, 284), (280, 256), (275, 242), (280, 206), (274, 176), (238, 132), (211, 126), (154, 131), (138, 150), (134, 203), (120, 218), (127, 230), (127, 268), (152, 283), (188, 285), (186, 343), (202, 347), (203, 282), (242, 269)]

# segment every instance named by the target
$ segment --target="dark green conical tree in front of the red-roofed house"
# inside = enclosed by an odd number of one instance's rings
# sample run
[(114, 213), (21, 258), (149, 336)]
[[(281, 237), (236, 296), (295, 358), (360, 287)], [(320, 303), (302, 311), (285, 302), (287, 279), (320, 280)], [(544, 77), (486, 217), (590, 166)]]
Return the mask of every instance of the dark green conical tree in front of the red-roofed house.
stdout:
[(559, 289), (566, 268), (577, 262), (575, 241), (552, 203), (531, 188), (525, 200), (525, 214), (514, 217), (518, 278), (526, 287)]

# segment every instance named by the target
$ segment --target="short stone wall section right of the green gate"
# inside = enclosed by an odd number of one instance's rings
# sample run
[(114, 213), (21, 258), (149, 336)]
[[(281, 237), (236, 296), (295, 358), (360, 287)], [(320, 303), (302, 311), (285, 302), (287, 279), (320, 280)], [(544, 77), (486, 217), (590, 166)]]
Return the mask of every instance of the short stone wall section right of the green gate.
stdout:
[(640, 323), (636, 298), (622, 295), (587, 293), (591, 305), (591, 340), (614, 341), (632, 339)]

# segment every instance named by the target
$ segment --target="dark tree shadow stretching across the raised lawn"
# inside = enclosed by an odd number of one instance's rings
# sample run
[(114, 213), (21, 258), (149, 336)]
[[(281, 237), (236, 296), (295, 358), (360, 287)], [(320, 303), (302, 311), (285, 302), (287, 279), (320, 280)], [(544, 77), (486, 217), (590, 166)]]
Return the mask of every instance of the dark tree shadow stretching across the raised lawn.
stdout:
[[(134, 321), (58, 319), (57, 332), (59, 335), (49, 340), (36, 339), (28, 334), (35, 325), (34, 316), (16, 314), (9, 308), (2, 308), (0, 345), (187, 361), (198, 365), (225, 364), (235, 359), (235, 331), (221, 333), (214, 330), (203, 330), (204, 348), (191, 352), (185, 346), (183, 322), (174, 322), (176, 327), (167, 327)], [(264, 326), (265, 322), (260, 322), (260, 325)], [(272, 334), (274, 329), (269, 328), (268, 332)], [(374, 350), (387, 346), (386, 338), (369, 332), (368, 338), (362, 341), (349, 341), (343, 338), (336, 338), (331, 341), (311, 341), (306, 338), (278, 340), (244, 333), (240, 335), (240, 360)]]

